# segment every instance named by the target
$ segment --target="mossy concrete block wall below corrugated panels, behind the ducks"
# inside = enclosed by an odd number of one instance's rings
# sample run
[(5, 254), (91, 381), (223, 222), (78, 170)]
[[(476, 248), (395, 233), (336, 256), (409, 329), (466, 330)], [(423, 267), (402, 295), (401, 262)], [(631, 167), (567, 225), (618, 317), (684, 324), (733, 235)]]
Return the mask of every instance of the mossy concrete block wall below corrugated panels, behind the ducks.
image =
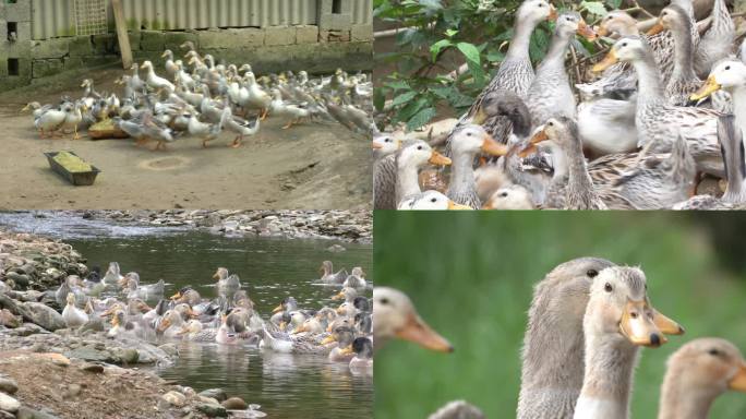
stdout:
[[(2, 1), (2, 0), (0, 0)], [(250, 63), (255, 71), (310, 72), (372, 70), (372, 24), (353, 24), (353, 0), (342, 0), (341, 13), (332, 13), (333, 0), (317, 0), (316, 25), (209, 28), (185, 31), (131, 31), (135, 60), (160, 62), (165, 49), (193, 41), (202, 53), (218, 60)], [(15, 36), (9, 37), (9, 22)], [(28, 85), (34, 80), (64, 71), (117, 65), (119, 44), (115, 34), (32, 39), (29, 0), (0, 3), (0, 88)]]

